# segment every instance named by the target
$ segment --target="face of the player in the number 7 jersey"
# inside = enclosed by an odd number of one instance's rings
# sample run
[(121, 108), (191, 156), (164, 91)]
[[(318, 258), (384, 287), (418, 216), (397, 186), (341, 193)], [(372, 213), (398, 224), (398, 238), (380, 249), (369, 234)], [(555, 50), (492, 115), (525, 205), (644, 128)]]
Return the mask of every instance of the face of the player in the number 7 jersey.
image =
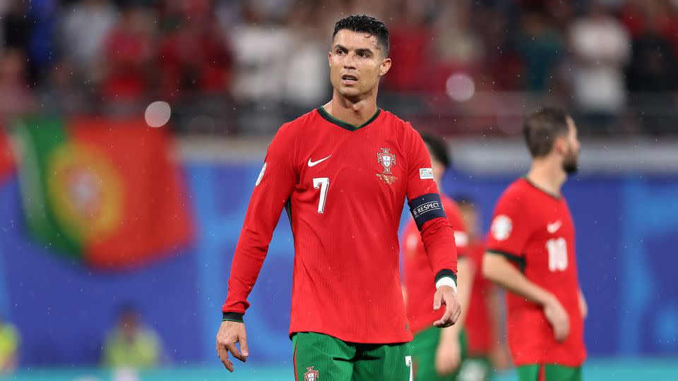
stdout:
[(391, 67), (375, 36), (346, 29), (335, 35), (328, 59), (332, 87), (354, 102), (374, 92)]

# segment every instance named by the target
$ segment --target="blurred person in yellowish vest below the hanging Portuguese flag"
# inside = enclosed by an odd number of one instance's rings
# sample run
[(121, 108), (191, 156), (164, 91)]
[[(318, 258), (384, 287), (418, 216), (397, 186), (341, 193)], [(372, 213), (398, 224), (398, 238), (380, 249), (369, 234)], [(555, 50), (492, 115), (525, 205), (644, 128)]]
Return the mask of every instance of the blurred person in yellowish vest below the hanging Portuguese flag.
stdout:
[(115, 327), (103, 346), (107, 368), (153, 368), (160, 364), (162, 343), (157, 333), (146, 327), (141, 313), (131, 305), (122, 306)]

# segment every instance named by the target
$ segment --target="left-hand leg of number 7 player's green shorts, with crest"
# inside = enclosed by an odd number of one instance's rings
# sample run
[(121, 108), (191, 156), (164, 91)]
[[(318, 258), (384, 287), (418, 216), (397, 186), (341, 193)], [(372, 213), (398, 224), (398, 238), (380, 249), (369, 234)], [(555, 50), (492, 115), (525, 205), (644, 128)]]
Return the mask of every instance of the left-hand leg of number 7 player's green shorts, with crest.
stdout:
[(355, 346), (315, 332), (298, 332), (294, 345), (295, 380), (351, 381)]

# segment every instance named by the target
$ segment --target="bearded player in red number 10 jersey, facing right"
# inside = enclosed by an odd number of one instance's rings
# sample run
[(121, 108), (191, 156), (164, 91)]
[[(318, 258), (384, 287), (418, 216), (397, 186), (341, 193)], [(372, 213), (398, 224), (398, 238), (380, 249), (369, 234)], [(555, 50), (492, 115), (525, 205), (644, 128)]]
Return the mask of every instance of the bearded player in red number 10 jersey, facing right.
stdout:
[(482, 272), (510, 291), (509, 349), (520, 380), (581, 380), (587, 308), (561, 194), (577, 169), (577, 128), (564, 111), (545, 108), (525, 119), (523, 134), (532, 167), (497, 202)]

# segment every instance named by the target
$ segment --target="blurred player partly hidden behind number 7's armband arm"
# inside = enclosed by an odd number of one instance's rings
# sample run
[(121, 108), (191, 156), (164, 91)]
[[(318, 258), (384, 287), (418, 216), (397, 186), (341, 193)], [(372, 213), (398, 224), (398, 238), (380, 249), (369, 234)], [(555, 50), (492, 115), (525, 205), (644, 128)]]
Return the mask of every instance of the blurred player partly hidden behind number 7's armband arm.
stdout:
[[(442, 193), (442, 177), (450, 165), (447, 147), (443, 140), (433, 135), (422, 134), (429, 155), (433, 177)], [(441, 195), (443, 208), (454, 231), (458, 260), (458, 298), (462, 310), (467, 310), (471, 289), (471, 267), (465, 258), (468, 236), (456, 203)], [(437, 329), (433, 323), (439, 319), (439, 313), (431, 306), (431, 298), (436, 289), (432, 286), (435, 273), (429, 265), (422, 237), (414, 220), (403, 231), (403, 257), (405, 260), (405, 308), (410, 320), (412, 340), (412, 364), (415, 379), (436, 381), (456, 380), (459, 365), (466, 351), (466, 339), (463, 333), (465, 313), (456, 324)]]

